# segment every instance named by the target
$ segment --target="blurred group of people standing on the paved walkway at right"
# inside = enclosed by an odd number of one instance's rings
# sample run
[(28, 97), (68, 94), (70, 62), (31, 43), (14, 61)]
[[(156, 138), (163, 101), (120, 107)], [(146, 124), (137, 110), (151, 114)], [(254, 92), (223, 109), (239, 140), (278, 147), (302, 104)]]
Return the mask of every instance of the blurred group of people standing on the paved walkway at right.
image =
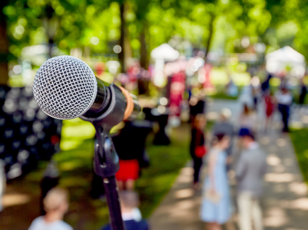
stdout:
[[(202, 188), (200, 218), (208, 229), (234, 229), (235, 212), (230, 196), (230, 171), (236, 178), (236, 207), (241, 230), (263, 229), (260, 199), (263, 195), (263, 176), (266, 174), (266, 156), (257, 142), (258, 134), (273, 132), (273, 115), (276, 110), (281, 117), (282, 132), (290, 132), (289, 120), (294, 98), (287, 84), (270, 88), (268, 74), (265, 81), (253, 76), (251, 84), (242, 89), (239, 101), (242, 111), (238, 122), (230, 121), (232, 112), (222, 109), (219, 120), (212, 127), (210, 137), (205, 138), (206, 118), (203, 112), (192, 115), (190, 155), (193, 159), (193, 188)], [(257, 80), (258, 84), (255, 84)], [(233, 86), (231, 86), (233, 87)], [(302, 108), (307, 88), (302, 81), (299, 88), (299, 108)], [(204, 102), (203, 102), (204, 103)], [(207, 139), (207, 141), (205, 140)], [(234, 147), (235, 139), (237, 143)], [(208, 144), (206, 144), (208, 143)], [(207, 173), (200, 181), (200, 169), (205, 161)]]

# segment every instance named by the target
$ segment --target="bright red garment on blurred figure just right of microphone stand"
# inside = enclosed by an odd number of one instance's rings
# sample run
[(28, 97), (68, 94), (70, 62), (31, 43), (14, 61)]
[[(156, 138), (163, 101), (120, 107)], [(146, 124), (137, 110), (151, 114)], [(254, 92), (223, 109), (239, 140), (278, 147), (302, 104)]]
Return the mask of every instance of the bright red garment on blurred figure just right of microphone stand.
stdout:
[(136, 159), (120, 160), (120, 170), (115, 173), (117, 180), (126, 182), (127, 180), (137, 180), (139, 178), (139, 163)]

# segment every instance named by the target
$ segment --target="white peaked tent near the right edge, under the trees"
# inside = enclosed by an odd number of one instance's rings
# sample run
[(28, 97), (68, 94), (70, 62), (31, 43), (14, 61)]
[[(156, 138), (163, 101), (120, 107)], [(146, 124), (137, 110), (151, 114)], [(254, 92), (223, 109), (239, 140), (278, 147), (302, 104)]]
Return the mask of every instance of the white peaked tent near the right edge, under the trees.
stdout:
[(304, 76), (306, 67), (304, 55), (290, 46), (266, 54), (266, 70), (269, 73), (280, 74), (285, 71), (286, 67), (291, 69), (292, 76)]

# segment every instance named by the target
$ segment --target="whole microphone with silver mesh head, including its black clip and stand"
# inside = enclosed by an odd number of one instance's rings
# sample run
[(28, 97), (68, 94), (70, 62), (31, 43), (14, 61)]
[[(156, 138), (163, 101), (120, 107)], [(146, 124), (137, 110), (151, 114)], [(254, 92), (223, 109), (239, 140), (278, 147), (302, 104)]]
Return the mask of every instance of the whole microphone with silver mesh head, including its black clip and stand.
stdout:
[(33, 95), (44, 113), (61, 120), (81, 117), (96, 129), (94, 171), (103, 185), (114, 230), (124, 230), (115, 173), (119, 158), (110, 129), (121, 120), (137, 116), (141, 108), (125, 88), (97, 79), (80, 59), (59, 56), (48, 59), (35, 75)]

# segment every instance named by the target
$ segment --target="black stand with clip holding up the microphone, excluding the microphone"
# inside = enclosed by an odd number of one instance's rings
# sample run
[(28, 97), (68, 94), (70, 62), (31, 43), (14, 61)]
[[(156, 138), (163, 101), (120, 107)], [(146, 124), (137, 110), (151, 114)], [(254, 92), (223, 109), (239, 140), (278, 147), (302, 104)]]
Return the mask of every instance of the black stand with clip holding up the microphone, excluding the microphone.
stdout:
[(98, 117), (81, 116), (82, 120), (91, 122), (96, 129), (94, 171), (103, 178), (105, 195), (110, 214), (110, 225), (113, 230), (125, 230), (120, 209), (118, 187), (115, 173), (119, 170), (119, 157), (110, 137), (110, 130), (123, 120), (126, 99), (122, 91), (115, 84), (108, 87), (110, 105)]

